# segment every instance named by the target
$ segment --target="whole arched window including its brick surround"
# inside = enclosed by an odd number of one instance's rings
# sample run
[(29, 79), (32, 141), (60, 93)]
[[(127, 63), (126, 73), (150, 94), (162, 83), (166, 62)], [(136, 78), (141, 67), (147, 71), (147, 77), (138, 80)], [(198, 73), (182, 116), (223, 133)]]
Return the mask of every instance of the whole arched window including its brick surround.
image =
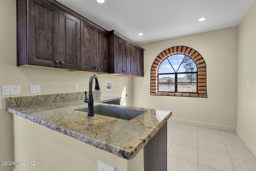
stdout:
[(207, 97), (206, 63), (192, 48), (166, 49), (152, 64), (150, 86), (150, 95)]

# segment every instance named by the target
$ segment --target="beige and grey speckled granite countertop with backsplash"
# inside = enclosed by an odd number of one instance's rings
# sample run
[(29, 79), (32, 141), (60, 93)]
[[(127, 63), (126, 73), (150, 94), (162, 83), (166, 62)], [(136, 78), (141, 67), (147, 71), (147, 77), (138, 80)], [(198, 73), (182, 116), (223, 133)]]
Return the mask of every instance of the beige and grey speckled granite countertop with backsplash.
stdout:
[[(64, 99), (64, 100), (63, 100)], [(94, 105), (145, 111), (131, 120), (78, 111), (88, 107), (83, 92), (7, 98), (6, 110), (124, 159), (132, 159), (166, 123), (171, 111), (102, 104), (121, 99), (94, 96)], [(99, 102), (99, 103), (97, 103)]]

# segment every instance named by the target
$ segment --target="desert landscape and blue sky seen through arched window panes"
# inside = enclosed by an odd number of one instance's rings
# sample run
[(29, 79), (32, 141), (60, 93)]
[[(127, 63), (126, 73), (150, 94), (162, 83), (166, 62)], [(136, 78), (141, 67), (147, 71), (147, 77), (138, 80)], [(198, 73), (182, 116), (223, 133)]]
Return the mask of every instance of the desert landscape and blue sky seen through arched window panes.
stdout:
[(183, 54), (166, 58), (158, 70), (158, 92), (197, 93), (197, 66)]

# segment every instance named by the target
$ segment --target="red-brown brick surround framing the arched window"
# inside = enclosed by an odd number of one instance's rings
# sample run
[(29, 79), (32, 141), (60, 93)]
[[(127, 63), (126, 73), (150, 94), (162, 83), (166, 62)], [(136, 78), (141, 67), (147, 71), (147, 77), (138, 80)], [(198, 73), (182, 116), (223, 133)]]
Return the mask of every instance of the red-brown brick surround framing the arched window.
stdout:
[[(157, 92), (158, 90), (158, 69), (161, 63), (174, 54), (184, 54), (194, 60), (198, 68), (198, 93), (168, 93)], [(206, 88), (206, 63), (204, 58), (194, 49), (187, 46), (174, 46), (162, 51), (154, 60), (150, 71), (150, 95), (183, 96), (183, 97), (204, 97), (207, 98)]]

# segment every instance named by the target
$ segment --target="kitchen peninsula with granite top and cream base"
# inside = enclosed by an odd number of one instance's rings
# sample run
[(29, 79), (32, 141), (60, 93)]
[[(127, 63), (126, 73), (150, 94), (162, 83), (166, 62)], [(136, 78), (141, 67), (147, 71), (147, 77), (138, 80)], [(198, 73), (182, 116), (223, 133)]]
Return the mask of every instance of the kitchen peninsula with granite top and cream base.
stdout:
[[(98, 170), (98, 159), (116, 171), (166, 170), (166, 121), (171, 111), (102, 104), (120, 98), (94, 94), (94, 105), (145, 112), (131, 120), (97, 113), (87, 117), (78, 111), (87, 107), (83, 92), (7, 98), (7, 111), (15, 114), (14, 139), (20, 147), (15, 150), (23, 156), (16, 160), (24, 160), (26, 153), (26, 160), (38, 161), (20, 170)], [(40, 157), (42, 153), (48, 153), (48, 159)], [(59, 160), (60, 155), (66, 155), (66, 161)]]

